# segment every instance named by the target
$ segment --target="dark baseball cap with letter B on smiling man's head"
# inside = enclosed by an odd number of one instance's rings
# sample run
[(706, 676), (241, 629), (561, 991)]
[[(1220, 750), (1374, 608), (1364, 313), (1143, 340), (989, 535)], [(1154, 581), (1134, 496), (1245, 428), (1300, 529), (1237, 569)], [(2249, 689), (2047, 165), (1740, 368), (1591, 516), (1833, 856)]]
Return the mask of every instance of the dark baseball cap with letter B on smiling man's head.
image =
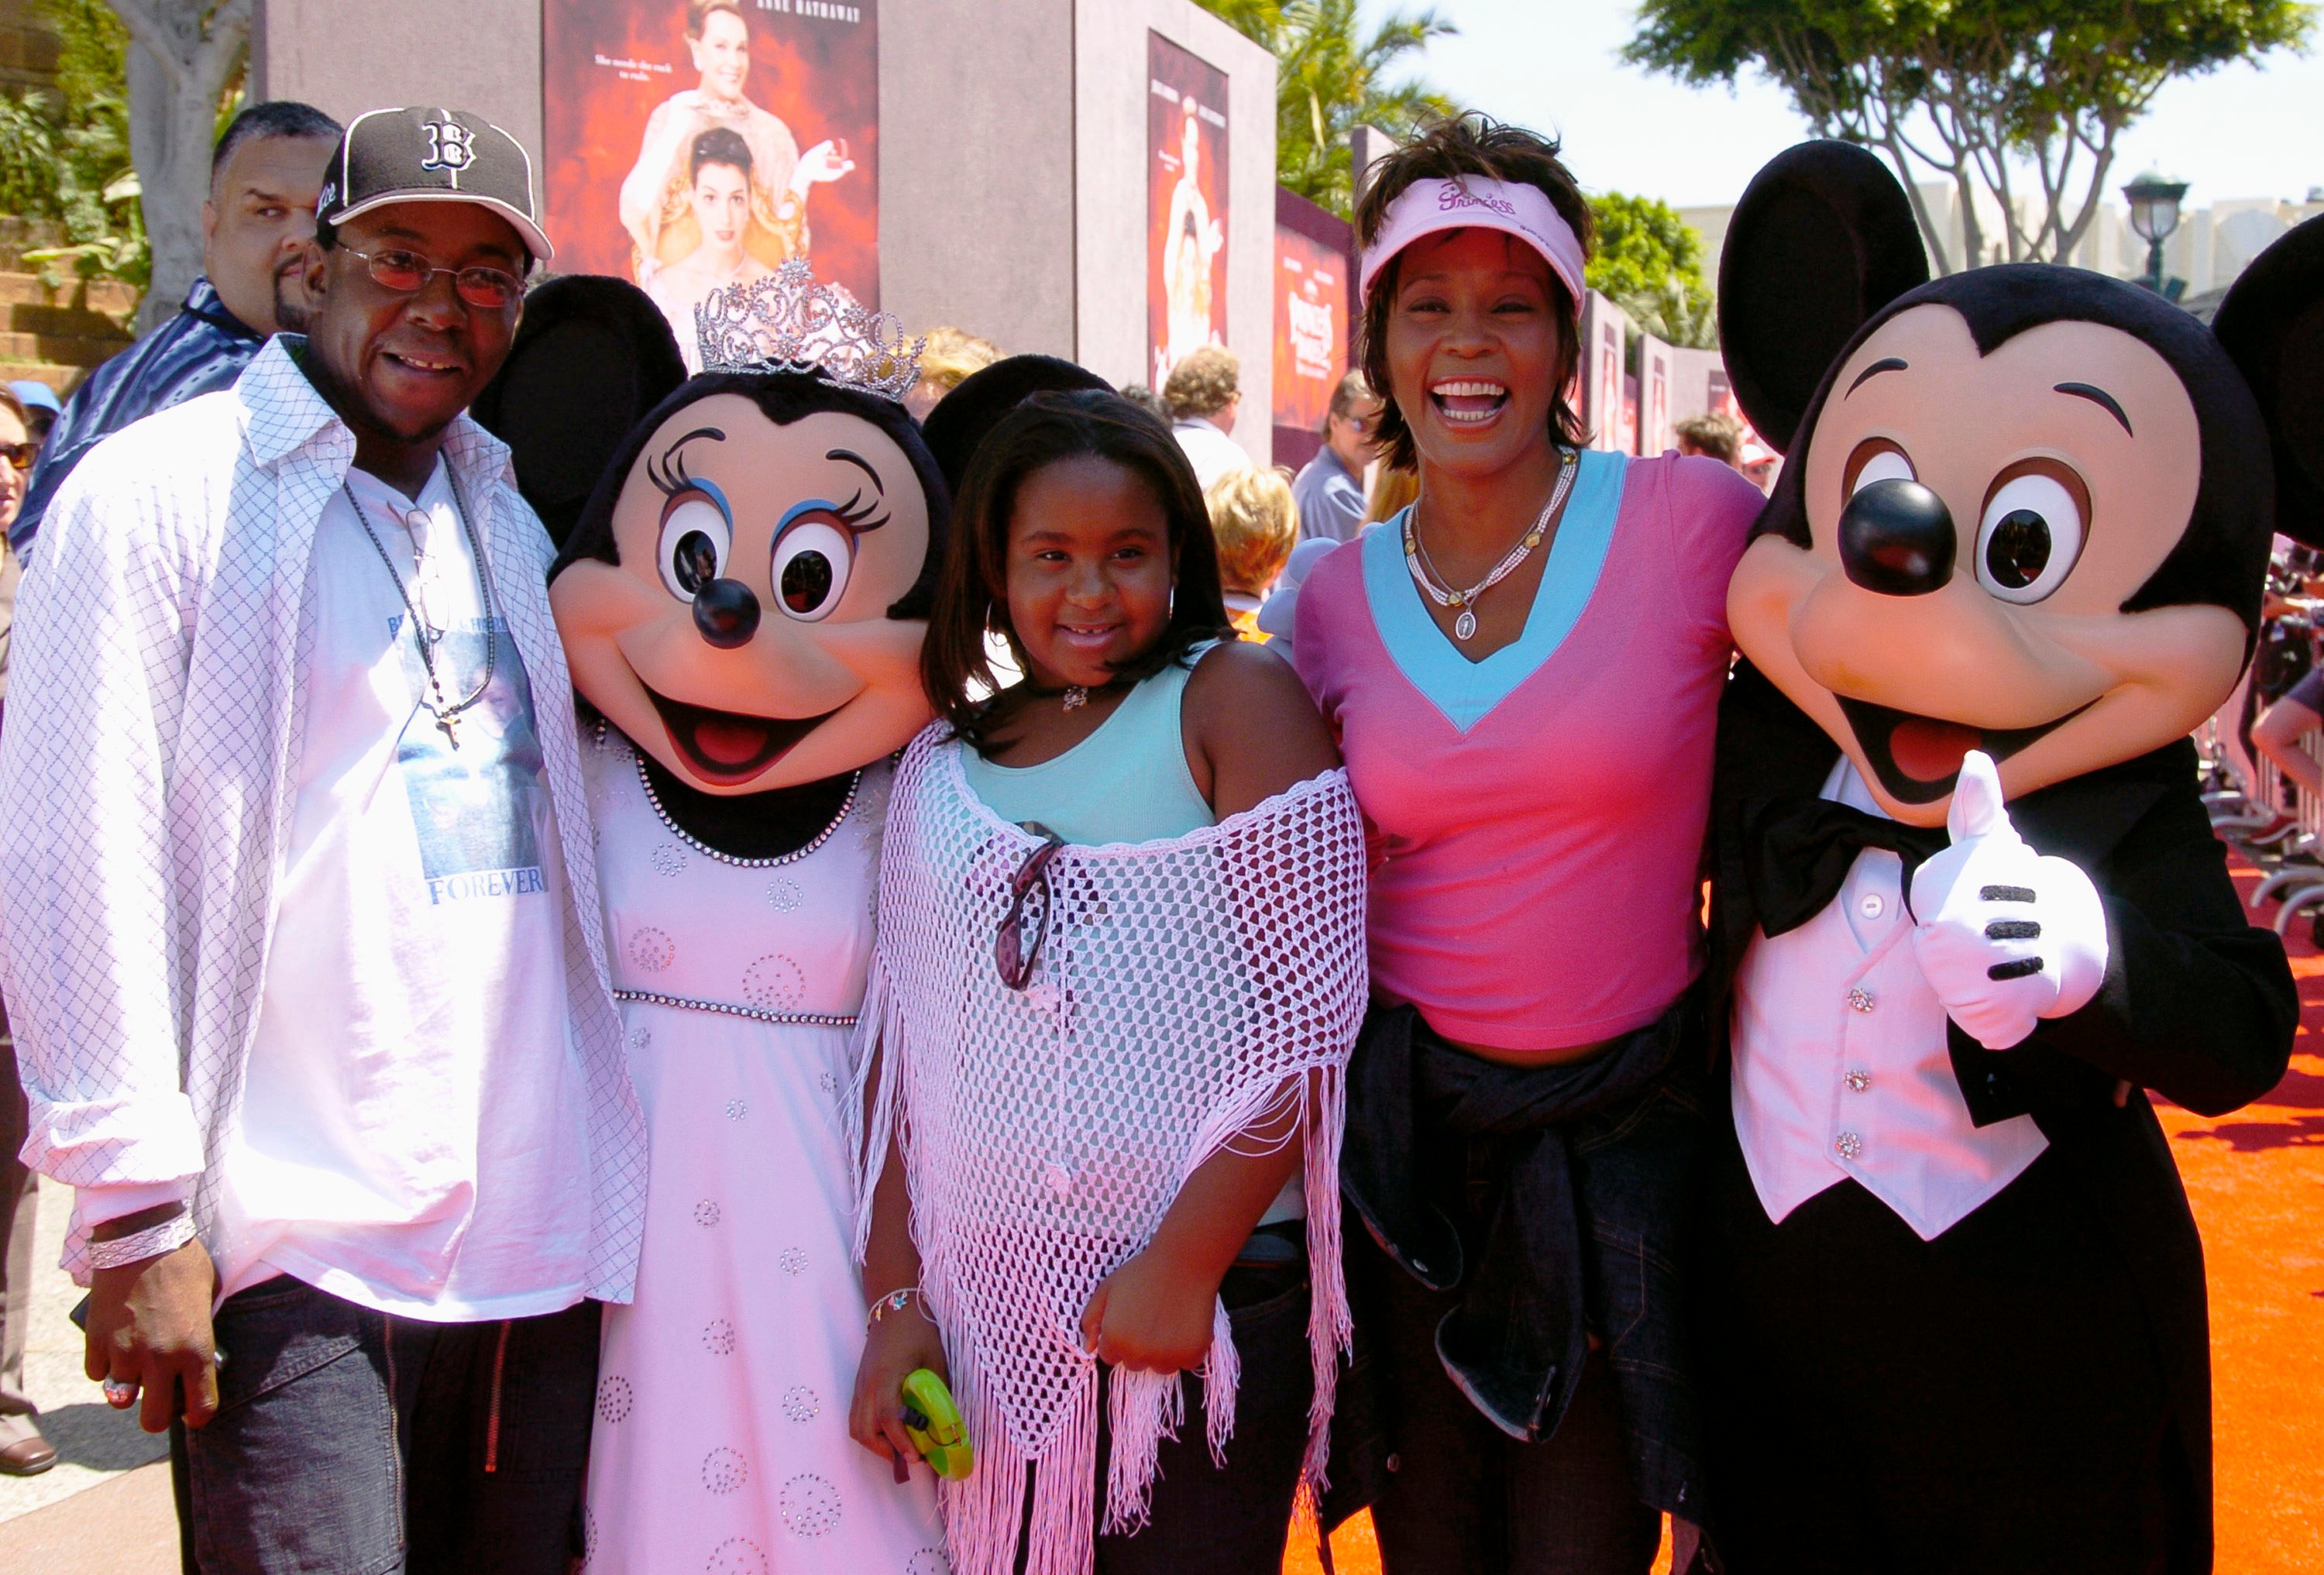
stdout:
[(532, 158), (465, 109), (372, 109), (349, 121), (323, 167), (316, 223), (342, 225), (388, 202), (476, 202), (516, 225), (535, 262), (555, 256), (532, 216)]

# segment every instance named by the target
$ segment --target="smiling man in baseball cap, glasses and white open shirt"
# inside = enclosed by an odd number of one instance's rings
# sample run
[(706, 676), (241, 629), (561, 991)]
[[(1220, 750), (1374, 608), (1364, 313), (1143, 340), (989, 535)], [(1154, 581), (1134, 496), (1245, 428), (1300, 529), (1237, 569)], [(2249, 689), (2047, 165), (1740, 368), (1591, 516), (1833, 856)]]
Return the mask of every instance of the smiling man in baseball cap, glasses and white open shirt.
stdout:
[(184, 1417), (202, 1570), (562, 1575), (644, 1124), (551, 546), (467, 404), (525, 151), (381, 109), (307, 337), (100, 444), (16, 616), (0, 985), (88, 1375)]

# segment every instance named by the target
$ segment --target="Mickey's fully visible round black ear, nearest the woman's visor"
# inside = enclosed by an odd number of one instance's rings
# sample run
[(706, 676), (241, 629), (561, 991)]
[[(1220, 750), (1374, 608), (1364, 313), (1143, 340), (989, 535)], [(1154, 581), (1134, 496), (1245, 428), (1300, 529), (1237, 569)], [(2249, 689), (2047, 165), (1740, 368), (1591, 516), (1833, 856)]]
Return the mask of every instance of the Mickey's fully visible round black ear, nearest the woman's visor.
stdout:
[(1801, 142), (1771, 158), (1720, 249), (1720, 351), (1759, 439), (1787, 453), (1855, 332), (1922, 283), (1913, 204), (1873, 153)]

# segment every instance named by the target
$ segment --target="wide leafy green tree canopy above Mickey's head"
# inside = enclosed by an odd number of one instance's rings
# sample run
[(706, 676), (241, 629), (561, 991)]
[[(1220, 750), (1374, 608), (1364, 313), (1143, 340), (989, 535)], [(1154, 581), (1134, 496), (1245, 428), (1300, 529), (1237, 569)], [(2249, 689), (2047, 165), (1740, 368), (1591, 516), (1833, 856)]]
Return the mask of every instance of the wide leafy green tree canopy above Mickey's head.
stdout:
[(1690, 84), (1757, 70), (1820, 137), (1880, 149), (1952, 272), (1915, 165), (1954, 186), (1961, 262), (2064, 260), (2166, 81), (2296, 46), (2310, 19), (2298, 0), (1641, 0), (1622, 53)]

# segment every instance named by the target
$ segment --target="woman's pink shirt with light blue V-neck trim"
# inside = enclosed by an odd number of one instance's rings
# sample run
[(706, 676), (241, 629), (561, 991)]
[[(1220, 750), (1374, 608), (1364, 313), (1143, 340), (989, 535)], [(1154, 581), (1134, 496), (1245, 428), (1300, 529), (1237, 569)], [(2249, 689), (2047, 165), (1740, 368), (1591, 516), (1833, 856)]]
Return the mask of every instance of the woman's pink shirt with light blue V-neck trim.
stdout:
[(1483, 662), (1429, 618), (1401, 516), (1315, 564), (1292, 648), (1373, 834), (1376, 997), (1552, 1050), (1687, 987), (1727, 578), (1762, 502), (1715, 460), (1585, 453), (1525, 634)]

